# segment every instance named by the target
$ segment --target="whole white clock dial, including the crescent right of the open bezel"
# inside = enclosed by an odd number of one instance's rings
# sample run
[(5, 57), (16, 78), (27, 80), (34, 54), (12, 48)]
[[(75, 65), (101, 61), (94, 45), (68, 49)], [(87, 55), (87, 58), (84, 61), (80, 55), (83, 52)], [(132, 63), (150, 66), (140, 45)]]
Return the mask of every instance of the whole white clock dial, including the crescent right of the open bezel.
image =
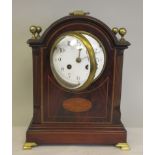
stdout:
[[(105, 66), (105, 49), (94, 37), (82, 33), (92, 45), (97, 63), (94, 80), (99, 77)], [(64, 36), (51, 51), (50, 65), (56, 80), (63, 87), (81, 87), (90, 74), (90, 58), (82, 41), (74, 36)], [(60, 77), (60, 78), (57, 78)], [(59, 81), (61, 80), (61, 82)]]

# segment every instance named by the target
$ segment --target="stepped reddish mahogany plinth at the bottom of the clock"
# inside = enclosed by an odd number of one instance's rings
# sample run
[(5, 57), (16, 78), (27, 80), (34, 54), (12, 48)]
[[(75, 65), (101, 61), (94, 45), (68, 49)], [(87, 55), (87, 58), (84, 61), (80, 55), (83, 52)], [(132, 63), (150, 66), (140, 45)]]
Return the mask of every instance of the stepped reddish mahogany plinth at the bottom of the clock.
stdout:
[[(26, 142), (46, 144), (116, 145), (126, 143), (127, 132), (122, 124), (30, 124)], [(127, 145), (117, 145), (121, 149)]]

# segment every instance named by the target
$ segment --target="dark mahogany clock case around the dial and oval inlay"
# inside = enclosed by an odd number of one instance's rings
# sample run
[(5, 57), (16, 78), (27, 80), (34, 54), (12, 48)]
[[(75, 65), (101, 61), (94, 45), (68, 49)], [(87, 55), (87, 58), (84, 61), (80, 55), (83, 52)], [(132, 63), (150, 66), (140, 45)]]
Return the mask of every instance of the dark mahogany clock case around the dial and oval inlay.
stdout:
[[(55, 40), (69, 31), (86, 31), (96, 36), (106, 50), (106, 66), (87, 89), (69, 91), (55, 80), (50, 68), (50, 51)], [(124, 49), (103, 22), (90, 16), (66, 16), (53, 23), (40, 39), (30, 39), (33, 55), (33, 119), (26, 142), (37, 144), (116, 144), (126, 142), (121, 122), (120, 100)], [(92, 107), (71, 112), (62, 106), (67, 99), (83, 98)]]

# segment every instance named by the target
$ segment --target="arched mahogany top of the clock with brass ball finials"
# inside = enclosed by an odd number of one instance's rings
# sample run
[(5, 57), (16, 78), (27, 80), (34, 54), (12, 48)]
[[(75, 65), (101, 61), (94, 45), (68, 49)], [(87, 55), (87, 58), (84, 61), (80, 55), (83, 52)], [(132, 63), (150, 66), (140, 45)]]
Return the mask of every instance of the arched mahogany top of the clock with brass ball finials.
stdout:
[[(88, 33), (105, 37), (110, 46), (121, 50), (128, 48), (130, 45), (130, 43), (124, 39), (124, 35), (126, 34), (125, 28), (113, 28), (111, 30), (102, 21), (88, 15), (70, 14), (70, 16), (63, 17), (51, 24), (40, 37), (39, 33), (41, 30), (39, 26), (30, 27), (32, 38), (29, 39), (27, 43), (31, 47), (46, 47), (53, 38), (63, 33), (63, 31), (76, 30), (87, 31)], [(116, 37), (117, 33), (120, 34), (120, 39)]]

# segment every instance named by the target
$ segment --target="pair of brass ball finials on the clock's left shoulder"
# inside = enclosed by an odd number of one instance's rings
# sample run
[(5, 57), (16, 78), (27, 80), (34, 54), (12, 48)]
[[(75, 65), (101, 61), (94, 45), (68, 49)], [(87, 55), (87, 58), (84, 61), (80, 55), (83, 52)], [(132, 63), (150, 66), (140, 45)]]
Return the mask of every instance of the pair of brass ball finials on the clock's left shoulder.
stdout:
[(42, 28), (40, 26), (30, 26), (30, 32), (32, 33), (32, 39), (39, 39), (40, 38), (40, 32), (42, 31)]

